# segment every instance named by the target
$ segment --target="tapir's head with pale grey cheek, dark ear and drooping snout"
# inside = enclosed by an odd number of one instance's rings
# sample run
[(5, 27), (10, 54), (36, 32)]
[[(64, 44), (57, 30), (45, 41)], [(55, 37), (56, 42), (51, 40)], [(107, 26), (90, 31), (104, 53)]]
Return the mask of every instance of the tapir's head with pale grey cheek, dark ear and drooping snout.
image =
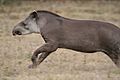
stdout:
[(12, 34), (15, 35), (25, 35), (30, 33), (39, 33), (40, 28), (37, 25), (37, 20), (39, 19), (38, 13), (36, 11), (30, 13), (30, 15), (20, 23), (18, 23), (13, 31)]

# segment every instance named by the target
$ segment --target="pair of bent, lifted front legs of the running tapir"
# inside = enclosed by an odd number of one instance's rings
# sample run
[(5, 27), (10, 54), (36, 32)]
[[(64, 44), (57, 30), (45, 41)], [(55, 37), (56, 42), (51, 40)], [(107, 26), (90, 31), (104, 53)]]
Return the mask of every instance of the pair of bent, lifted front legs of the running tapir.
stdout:
[[(30, 65), (29, 68), (37, 67), (37, 65), (39, 65), (51, 52), (55, 51), (57, 48), (58, 48), (57, 43), (53, 43), (53, 42), (46, 43), (40, 48), (38, 48), (32, 55), (31, 60), (33, 64)], [(39, 56), (39, 59), (37, 60), (38, 54), (40, 53), (41, 55)]]

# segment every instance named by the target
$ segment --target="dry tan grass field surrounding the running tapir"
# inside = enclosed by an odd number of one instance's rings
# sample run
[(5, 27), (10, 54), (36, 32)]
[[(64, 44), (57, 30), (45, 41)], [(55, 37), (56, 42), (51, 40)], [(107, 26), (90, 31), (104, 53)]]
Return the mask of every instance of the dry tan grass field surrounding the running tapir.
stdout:
[(0, 6), (0, 80), (120, 80), (120, 70), (101, 52), (58, 49), (37, 69), (27, 68), (32, 52), (44, 41), (37, 34), (13, 37), (11, 30), (34, 9), (120, 26), (120, 1), (62, 1), (23, 1)]

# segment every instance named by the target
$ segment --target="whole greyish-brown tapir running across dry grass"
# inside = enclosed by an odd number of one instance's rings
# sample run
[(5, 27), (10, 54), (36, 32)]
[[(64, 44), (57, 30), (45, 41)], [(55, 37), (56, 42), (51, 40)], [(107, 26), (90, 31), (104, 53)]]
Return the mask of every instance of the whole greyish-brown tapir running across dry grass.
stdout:
[[(35, 68), (58, 48), (84, 53), (104, 52), (120, 68), (120, 28), (102, 21), (74, 20), (50, 11), (33, 11), (18, 23), (13, 35), (41, 34), (45, 44), (32, 55)], [(40, 54), (40, 56), (39, 56)]]

